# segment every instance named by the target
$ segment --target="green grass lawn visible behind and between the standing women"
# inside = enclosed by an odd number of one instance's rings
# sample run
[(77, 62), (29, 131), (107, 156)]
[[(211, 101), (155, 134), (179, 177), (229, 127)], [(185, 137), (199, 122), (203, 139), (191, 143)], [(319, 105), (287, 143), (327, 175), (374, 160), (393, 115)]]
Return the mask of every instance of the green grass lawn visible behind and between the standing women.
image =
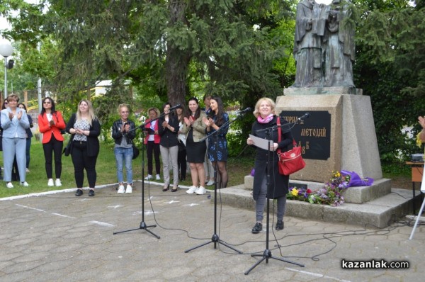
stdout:
[[(64, 142), (64, 145), (67, 141)], [(3, 152), (1, 155), (1, 167), (3, 167)], [(72, 165), (71, 157), (65, 157), (62, 154), (62, 186), (49, 187), (47, 186), (47, 176), (45, 172), (45, 158), (42, 151), (41, 142), (33, 138), (30, 151), (30, 172), (26, 174), (26, 181), (30, 184), (29, 187), (19, 185), (19, 182), (13, 182), (14, 188), (6, 188), (6, 182), (0, 182), (0, 198), (17, 196), (28, 193), (39, 193), (45, 191), (55, 191), (66, 188), (75, 188), (74, 181), (74, 167)], [(235, 186), (244, 183), (244, 176), (248, 175), (251, 168), (254, 166), (254, 159), (251, 158), (237, 158), (229, 159), (229, 184), (228, 186)], [(106, 145), (101, 143), (101, 152), (99, 153), (96, 163), (97, 181), (96, 186), (105, 184), (117, 183), (115, 156), (113, 154), (113, 145)], [(124, 171), (125, 173), (125, 171)], [(89, 186), (85, 175), (84, 187)], [(147, 175), (147, 157), (145, 152), (145, 176)], [(53, 176), (55, 176), (55, 164), (53, 164)], [(142, 179), (142, 155), (140, 154), (137, 159), (133, 160), (133, 179)], [(186, 181), (182, 185), (191, 186), (190, 174), (186, 176)], [(212, 186), (213, 187), (213, 186)], [(210, 188), (210, 187), (209, 187)]]

